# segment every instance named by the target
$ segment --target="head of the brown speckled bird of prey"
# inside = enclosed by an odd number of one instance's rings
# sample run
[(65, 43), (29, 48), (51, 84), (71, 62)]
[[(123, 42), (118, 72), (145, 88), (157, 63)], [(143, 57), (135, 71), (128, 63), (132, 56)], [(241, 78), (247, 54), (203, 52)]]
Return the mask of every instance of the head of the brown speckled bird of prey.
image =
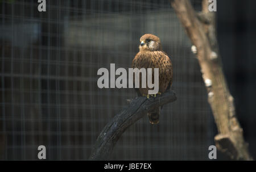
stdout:
[(162, 46), (159, 37), (152, 34), (145, 34), (139, 39), (139, 51), (160, 51)]

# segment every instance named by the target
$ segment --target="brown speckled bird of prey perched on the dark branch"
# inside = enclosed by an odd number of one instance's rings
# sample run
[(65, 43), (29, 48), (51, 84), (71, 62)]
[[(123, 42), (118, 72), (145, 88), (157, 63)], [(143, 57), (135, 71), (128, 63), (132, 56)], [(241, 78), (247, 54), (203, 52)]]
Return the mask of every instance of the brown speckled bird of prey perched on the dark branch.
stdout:
[[(133, 59), (132, 68), (152, 68), (152, 82), (154, 82), (154, 68), (159, 69), (159, 93), (162, 94), (164, 91), (170, 89), (172, 85), (173, 68), (171, 59), (162, 50), (162, 45), (160, 43), (159, 37), (152, 34), (145, 34), (140, 39), (141, 44), (139, 45), (139, 52)], [(148, 87), (141, 87), (141, 77), (140, 86), (135, 89), (138, 96), (152, 96), (148, 95)], [(134, 81), (135, 82), (135, 81)], [(155, 96), (155, 95), (154, 95)], [(162, 108), (162, 107), (161, 107)], [(148, 119), (151, 124), (159, 123), (160, 107), (148, 112)]]

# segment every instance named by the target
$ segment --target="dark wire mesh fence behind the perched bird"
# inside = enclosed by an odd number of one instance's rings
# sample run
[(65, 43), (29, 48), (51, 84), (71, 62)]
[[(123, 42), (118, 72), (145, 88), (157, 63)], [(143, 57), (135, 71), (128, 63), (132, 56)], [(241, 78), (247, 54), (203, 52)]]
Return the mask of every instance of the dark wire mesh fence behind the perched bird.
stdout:
[[(200, 9), (200, 1), (192, 1)], [(207, 160), (213, 119), (191, 53), (170, 2), (1, 1), (0, 158), (86, 160), (105, 124), (137, 95), (99, 89), (97, 70), (130, 68), (139, 37), (153, 33), (174, 63), (177, 100), (159, 125), (147, 116), (117, 142), (111, 160)]]

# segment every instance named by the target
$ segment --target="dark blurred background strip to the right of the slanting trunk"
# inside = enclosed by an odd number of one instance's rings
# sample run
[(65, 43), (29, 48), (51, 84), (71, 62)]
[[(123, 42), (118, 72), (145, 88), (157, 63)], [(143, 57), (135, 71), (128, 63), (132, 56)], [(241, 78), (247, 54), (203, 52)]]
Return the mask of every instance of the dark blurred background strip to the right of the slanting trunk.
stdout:
[(256, 1), (217, 1), (217, 34), (226, 81), (256, 158)]

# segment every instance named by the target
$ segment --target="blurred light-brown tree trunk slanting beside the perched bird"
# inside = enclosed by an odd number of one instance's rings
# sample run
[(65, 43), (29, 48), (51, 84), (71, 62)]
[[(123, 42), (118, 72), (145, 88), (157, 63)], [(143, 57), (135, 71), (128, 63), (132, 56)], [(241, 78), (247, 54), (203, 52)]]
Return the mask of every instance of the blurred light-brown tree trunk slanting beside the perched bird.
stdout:
[(233, 160), (252, 160), (243, 139), (243, 130), (236, 118), (234, 99), (222, 72), (215, 12), (209, 12), (208, 0), (202, 1), (202, 11), (199, 13), (188, 0), (171, 0), (171, 5), (192, 41), (192, 51), (197, 54), (201, 66), (208, 102), (218, 128), (218, 135), (214, 137), (217, 149)]

